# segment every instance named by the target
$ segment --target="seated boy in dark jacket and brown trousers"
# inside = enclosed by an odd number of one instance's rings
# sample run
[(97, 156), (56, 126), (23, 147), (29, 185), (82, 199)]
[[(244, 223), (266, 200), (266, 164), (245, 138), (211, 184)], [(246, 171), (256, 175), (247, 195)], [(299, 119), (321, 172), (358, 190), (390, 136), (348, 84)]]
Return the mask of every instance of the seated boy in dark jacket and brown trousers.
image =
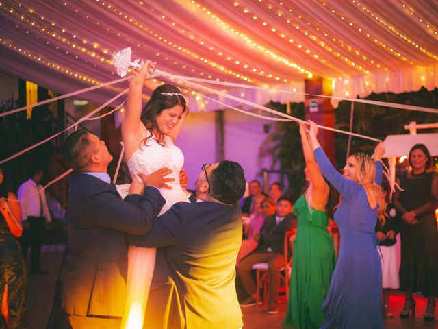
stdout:
[[(292, 215), (292, 200), (281, 197), (276, 203), (276, 214), (266, 217), (260, 232), (259, 245), (255, 251), (243, 258), (237, 265), (237, 274), (242, 280), (249, 297), (240, 304), (241, 307), (255, 306), (257, 289), (251, 275), (253, 265), (269, 264), (269, 307), (268, 314), (279, 312), (278, 297), (280, 287), (280, 269), (285, 266), (283, 256), (283, 239), (285, 232), (296, 228), (296, 218)], [(290, 252), (290, 251), (289, 251)]]

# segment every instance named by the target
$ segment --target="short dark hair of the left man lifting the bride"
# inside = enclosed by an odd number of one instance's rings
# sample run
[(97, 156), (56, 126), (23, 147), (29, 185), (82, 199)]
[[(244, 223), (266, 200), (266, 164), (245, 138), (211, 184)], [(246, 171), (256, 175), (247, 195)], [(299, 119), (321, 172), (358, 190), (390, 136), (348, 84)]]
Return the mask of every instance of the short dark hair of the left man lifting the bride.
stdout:
[(62, 147), (64, 161), (73, 171), (81, 171), (90, 162), (90, 154), (86, 151), (90, 145), (86, 130), (73, 132)]

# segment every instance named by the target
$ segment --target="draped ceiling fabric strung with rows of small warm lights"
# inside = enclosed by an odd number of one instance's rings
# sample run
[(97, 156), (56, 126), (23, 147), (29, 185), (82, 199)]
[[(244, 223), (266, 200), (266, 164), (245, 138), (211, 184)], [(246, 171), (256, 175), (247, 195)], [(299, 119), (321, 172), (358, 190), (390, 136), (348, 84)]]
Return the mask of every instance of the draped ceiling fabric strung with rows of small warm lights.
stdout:
[[(259, 104), (303, 101), (312, 76), (337, 97), (431, 90), (437, 17), (426, 0), (1, 0), (0, 70), (68, 93), (116, 79), (112, 53), (129, 46), (169, 73), (262, 86), (212, 87)], [(126, 86), (79, 97), (103, 103)], [(192, 112), (224, 107), (182, 90)]]

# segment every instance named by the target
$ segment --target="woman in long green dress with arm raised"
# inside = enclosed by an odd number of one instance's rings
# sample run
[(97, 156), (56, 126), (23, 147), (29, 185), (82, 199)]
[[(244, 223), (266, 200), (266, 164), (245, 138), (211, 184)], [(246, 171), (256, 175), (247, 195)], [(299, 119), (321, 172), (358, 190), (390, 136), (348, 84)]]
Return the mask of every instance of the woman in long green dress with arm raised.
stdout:
[[(327, 230), (333, 197), (313, 156), (304, 123), (300, 123), (308, 187), (294, 204), (298, 228), (294, 241), (289, 301), (283, 328), (320, 328), (322, 302), (335, 269), (335, 247)], [(334, 199), (334, 198), (333, 198)]]

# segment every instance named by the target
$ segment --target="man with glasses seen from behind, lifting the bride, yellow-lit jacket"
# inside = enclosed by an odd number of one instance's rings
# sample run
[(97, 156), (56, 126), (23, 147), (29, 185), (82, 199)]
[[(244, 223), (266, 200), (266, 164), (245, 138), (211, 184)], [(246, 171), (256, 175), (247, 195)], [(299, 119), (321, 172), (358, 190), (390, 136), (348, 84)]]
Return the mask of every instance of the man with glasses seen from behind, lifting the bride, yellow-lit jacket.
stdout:
[(204, 164), (196, 180), (198, 202), (178, 202), (149, 233), (129, 243), (158, 247), (144, 328), (243, 326), (235, 291), (235, 262), (242, 243), (245, 191), (240, 164)]

